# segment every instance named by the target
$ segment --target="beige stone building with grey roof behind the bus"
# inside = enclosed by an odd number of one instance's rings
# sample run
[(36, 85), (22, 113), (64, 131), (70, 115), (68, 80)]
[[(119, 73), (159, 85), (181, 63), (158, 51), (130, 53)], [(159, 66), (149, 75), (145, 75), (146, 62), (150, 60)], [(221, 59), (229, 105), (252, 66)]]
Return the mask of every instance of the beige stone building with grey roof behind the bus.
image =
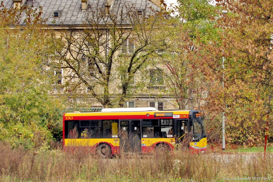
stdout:
[[(105, 62), (100, 62), (99, 56), (105, 57), (102, 60), (108, 60), (107, 56), (113, 47), (112, 44), (114, 44), (114, 42), (111, 42), (113, 35), (110, 35), (110, 30), (108, 30), (110, 26), (103, 24), (103, 22), (109, 20), (101, 19), (101, 22), (95, 28), (92, 28), (92, 22), (89, 22), (87, 17), (90, 15), (94, 16), (94, 13), (98, 12), (103, 12), (103, 16), (111, 15), (113, 12), (129, 13), (129, 11), (122, 9), (121, 6), (123, 8), (127, 7), (127, 10), (130, 6), (130, 11), (134, 11), (131, 15), (136, 15), (135, 18), (138, 19), (138, 17), (143, 17), (148, 12), (160, 11), (165, 8), (164, 3), (160, 0), (4, 0), (4, 5), (7, 8), (20, 8), (21, 6), (33, 6), (37, 8), (38, 6), (42, 6), (42, 19), (46, 20), (45, 24), (47, 28), (54, 30), (56, 36), (61, 39), (66, 39), (67, 33), (73, 35), (74, 42), (71, 47), (68, 48), (67, 45), (64, 45), (60, 52), (56, 50), (54, 53), (46, 55), (46, 59), (52, 62), (59, 60), (62, 62), (61, 64), (56, 63), (56, 67), (47, 67), (47, 69), (57, 78), (52, 94), (70, 93), (71, 96), (68, 97), (69, 102), (72, 105), (75, 103), (77, 107), (81, 108), (103, 108), (100, 99), (105, 99), (103, 97), (105, 89), (102, 87), (105, 80), (102, 75), (105, 74), (101, 72), (106, 72), (105, 69), (107, 67), (101, 66)], [(119, 14), (117, 17), (121, 17), (121, 15)], [(22, 15), (22, 19), (24, 19), (24, 15)], [(96, 20), (98, 20), (98, 17)], [(93, 21), (95, 21), (94, 17)], [(21, 22), (21, 25), (23, 26), (24, 22)], [(131, 28), (128, 22), (120, 27), (126, 30), (130, 30)], [(113, 25), (111, 30), (112, 28)], [(97, 46), (100, 52), (96, 54), (96, 56), (99, 55), (98, 58), (92, 56), (94, 54), (94, 47), (96, 47), (92, 43), (92, 36), (96, 34), (88, 32), (92, 29), (101, 29), (102, 32), (100, 32), (101, 46)], [(92, 36), (89, 36), (89, 33)], [(122, 33), (124, 33), (123, 37), (120, 36), (119, 39), (126, 37), (126, 31)], [(120, 47), (118, 47), (119, 49), (111, 55), (116, 58), (113, 59), (112, 66), (114, 68), (111, 70), (111, 74), (109, 74), (109, 90), (107, 90), (110, 95), (109, 99), (112, 101), (120, 97), (123, 91), (121, 83), (123, 79), (128, 79), (128, 72), (124, 72), (124, 70), (128, 70), (128, 66), (121, 67), (120, 65), (127, 64), (130, 61), (129, 59), (132, 58), (132, 54), (141, 46), (141, 43), (137, 45), (136, 39), (137, 35), (131, 33), (130, 36), (123, 39)], [(104, 40), (105, 42), (103, 42)], [(66, 41), (66, 43), (69, 42)], [(57, 46), (57, 44), (54, 46)], [(76, 51), (68, 51), (72, 49)], [(157, 50), (155, 47), (153, 49), (154, 51)], [(147, 52), (147, 50), (145, 49), (143, 52)], [(64, 53), (65, 51), (69, 53)], [(143, 55), (143, 53), (140, 53), (139, 57), (141, 57), (141, 54)], [(127, 56), (128, 60), (126, 59), (126, 55), (129, 55)], [(162, 70), (165, 67), (159, 65), (155, 61), (156, 57), (153, 58), (153, 55), (151, 54), (145, 58), (141, 57), (141, 59), (147, 59), (147, 61), (139, 70), (133, 72), (133, 76), (130, 77), (130, 93), (127, 91), (128, 97), (124, 99), (124, 107), (155, 107), (158, 110), (177, 109), (174, 97), (165, 92), (168, 89), (162, 77)], [(61, 57), (70, 59), (71, 62), (76, 62), (78, 66), (74, 66), (75, 70), (71, 69), (71, 67), (67, 66), (68, 63), (64, 61), (65, 59), (60, 59)], [(118, 100), (116, 100), (116, 103), (118, 103)]]

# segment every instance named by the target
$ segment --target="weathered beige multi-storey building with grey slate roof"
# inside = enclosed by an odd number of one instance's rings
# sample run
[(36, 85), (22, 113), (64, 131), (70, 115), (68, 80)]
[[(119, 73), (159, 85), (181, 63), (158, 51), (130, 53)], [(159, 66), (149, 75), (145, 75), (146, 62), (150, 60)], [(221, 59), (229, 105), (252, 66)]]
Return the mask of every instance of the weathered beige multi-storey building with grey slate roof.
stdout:
[[(162, 77), (164, 65), (156, 61), (156, 52), (161, 48), (147, 43), (156, 36), (158, 39), (158, 35), (143, 36), (143, 30), (134, 27), (143, 21), (143, 25), (147, 24), (145, 31), (155, 29), (156, 24), (151, 25), (145, 16), (165, 9), (160, 0), (4, 0), (4, 5), (42, 6), (45, 27), (62, 40), (54, 42), (55, 51), (46, 56), (55, 62), (46, 67), (56, 76), (53, 95), (70, 93), (69, 102), (83, 108), (109, 107), (103, 103), (110, 99), (116, 103), (113, 106), (123, 102), (124, 107), (177, 109), (174, 97), (165, 93), (168, 88)], [(20, 25), (24, 26), (24, 22)], [(124, 92), (126, 97), (120, 99)]]

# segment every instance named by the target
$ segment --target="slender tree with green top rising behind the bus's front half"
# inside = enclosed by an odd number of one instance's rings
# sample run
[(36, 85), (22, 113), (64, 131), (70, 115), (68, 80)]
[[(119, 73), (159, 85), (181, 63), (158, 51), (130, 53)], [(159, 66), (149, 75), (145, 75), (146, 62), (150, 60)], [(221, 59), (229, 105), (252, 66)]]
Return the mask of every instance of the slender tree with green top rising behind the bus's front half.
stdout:
[(198, 66), (204, 52), (200, 41), (208, 41), (213, 33), (214, 9), (206, 0), (177, 1), (172, 8), (173, 46), (161, 61), (167, 68), (164, 82), (180, 110), (201, 109), (205, 103), (208, 81)]

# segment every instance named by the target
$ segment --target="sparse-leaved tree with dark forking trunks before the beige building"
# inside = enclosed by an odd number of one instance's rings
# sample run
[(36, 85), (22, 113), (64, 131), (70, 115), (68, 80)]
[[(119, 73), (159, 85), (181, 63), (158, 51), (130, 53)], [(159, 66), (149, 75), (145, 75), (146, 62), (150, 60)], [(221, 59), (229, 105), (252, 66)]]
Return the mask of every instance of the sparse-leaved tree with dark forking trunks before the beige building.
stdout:
[(160, 24), (167, 27), (166, 16), (148, 4), (139, 15), (135, 5), (123, 1), (114, 11), (99, 5), (91, 9), (80, 29), (55, 32), (62, 40), (54, 42), (61, 46), (60, 64), (51, 66), (69, 72), (66, 91), (87, 92), (104, 107), (123, 106), (145, 86), (140, 72), (166, 44), (169, 32), (158, 31)]

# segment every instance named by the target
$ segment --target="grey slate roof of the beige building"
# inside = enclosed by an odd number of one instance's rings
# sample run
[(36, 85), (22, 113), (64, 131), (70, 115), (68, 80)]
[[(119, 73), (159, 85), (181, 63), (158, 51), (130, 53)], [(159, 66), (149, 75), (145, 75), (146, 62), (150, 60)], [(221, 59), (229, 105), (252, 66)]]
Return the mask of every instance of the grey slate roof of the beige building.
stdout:
[[(105, 2), (106, 0), (89, 0), (86, 11), (82, 11), (81, 0), (26, 0), (24, 5), (33, 5), (34, 8), (42, 6), (42, 19), (47, 19), (46, 25), (82, 25), (92, 9), (94, 7), (105, 8)], [(120, 3), (135, 4), (137, 9), (151, 7), (155, 10), (160, 10), (159, 7), (149, 0), (115, 0), (111, 11), (116, 11)], [(12, 0), (4, 0), (4, 6), (13, 8)], [(53, 12), (59, 12), (60, 16), (54, 18)], [(23, 19), (25, 19), (24, 14), (22, 14)], [(20, 25), (24, 25), (24, 22), (21, 21)]]

